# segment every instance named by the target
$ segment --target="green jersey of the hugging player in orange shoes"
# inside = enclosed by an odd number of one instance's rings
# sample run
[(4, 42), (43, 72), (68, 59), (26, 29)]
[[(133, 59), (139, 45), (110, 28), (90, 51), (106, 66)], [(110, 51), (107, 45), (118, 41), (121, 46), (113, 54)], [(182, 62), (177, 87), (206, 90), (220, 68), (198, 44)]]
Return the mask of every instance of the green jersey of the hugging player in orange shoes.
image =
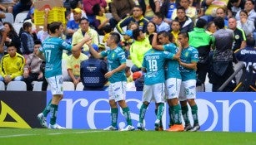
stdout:
[[(176, 54), (178, 52), (177, 46), (173, 43), (163, 45), (164, 51)], [(166, 80), (169, 78), (181, 79), (178, 60), (168, 60), (167, 62), (167, 71), (166, 71)]]

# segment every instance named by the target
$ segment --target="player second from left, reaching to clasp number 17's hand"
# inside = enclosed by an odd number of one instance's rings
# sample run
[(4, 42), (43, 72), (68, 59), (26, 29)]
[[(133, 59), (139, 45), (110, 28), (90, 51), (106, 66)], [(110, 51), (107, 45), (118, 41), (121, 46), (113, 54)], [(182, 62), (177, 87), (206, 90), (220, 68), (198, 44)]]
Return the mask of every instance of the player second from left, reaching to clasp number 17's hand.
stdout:
[(121, 129), (121, 131), (132, 131), (135, 128), (132, 125), (132, 118), (130, 115), (130, 109), (125, 101), (126, 96), (126, 58), (122, 48), (118, 46), (120, 42), (120, 35), (117, 32), (111, 32), (108, 36), (107, 46), (109, 50), (98, 53), (89, 45), (89, 50), (95, 58), (103, 58), (107, 56), (108, 60), (108, 73), (105, 77), (108, 78), (110, 85), (108, 88), (109, 104), (111, 107), (111, 125), (104, 130), (118, 130), (118, 105), (123, 109), (123, 115), (125, 116), (128, 126)]

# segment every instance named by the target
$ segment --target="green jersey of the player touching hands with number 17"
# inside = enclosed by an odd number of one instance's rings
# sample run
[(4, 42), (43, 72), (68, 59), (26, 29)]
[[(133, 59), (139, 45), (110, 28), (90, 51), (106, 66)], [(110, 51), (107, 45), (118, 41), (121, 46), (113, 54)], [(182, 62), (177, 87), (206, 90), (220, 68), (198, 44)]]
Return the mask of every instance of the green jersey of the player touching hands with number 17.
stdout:
[[(101, 56), (108, 58), (108, 71), (118, 68), (120, 65), (126, 63), (125, 53), (122, 48), (117, 47), (113, 50), (106, 50), (101, 52)], [(114, 73), (109, 79), (110, 83), (118, 81), (127, 81), (124, 70)]]

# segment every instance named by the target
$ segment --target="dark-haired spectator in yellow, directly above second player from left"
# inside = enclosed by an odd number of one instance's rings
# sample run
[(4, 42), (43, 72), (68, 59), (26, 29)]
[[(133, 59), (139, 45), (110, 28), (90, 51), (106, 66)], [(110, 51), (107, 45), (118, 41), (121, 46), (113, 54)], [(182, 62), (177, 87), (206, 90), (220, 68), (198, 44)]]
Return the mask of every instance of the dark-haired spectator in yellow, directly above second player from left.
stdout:
[(103, 35), (103, 27), (108, 25), (109, 19), (106, 17), (105, 9), (99, 4), (93, 6), (93, 13), (96, 15), (96, 21), (94, 26), (99, 35)]

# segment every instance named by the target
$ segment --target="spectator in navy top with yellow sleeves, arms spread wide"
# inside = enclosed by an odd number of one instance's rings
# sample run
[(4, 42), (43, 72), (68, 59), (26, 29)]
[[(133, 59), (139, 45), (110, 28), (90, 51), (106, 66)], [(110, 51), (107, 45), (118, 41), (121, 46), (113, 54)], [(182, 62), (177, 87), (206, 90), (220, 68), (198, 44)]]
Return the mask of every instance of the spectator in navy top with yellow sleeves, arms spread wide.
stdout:
[(123, 34), (123, 27), (128, 27), (130, 22), (136, 22), (139, 30), (145, 32), (148, 25), (148, 19), (143, 17), (143, 10), (140, 6), (133, 7), (133, 15), (125, 17), (121, 22), (118, 22), (117, 29)]

